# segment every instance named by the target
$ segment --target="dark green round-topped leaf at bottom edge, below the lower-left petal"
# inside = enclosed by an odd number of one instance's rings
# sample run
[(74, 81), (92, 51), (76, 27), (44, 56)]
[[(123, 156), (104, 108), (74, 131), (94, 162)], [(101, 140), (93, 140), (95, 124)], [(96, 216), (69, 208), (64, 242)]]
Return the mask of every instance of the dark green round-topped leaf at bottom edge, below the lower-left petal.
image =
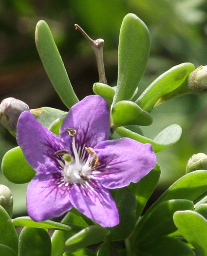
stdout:
[(51, 240), (47, 231), (24, 227), (19, 235), (18, 256), (51, 256)]

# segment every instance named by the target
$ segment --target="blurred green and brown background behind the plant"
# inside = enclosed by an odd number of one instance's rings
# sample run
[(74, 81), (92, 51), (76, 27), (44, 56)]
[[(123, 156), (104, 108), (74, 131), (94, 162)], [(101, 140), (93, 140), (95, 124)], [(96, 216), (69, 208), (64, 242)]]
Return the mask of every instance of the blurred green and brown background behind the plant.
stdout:
[[(149, 27), (151, 55), (140, 93), (174, 65), (207, 64), (206, 0), (1, 0), (0, 1), (0, 100), (19, 98), (30, 108), (50, 106), (67, 110), (53, 89), (36, 50), (38, 20), (50, 26), (79, 99), (93, 94), (98, 81), (95, 57), (88, 42), (75, 30), (79, 24), (91, 38), (103, 38), (108, 83), (116, 84), (117, 47), (121, 22), (134, 13)], [(153, 124), (144, 128), (149, 138), (176, 123), (181, 140), (157, 154), (162, 176), (159, 190), (185, 174), (188, 158), (207, 153), (207, 95), (175, 98), (152, 111)], [(16, 140), (0, 126), (0, 158)], [(27, 184), (15, 185), (0, 175), (0, 183), (12, 190), (15, 215), (25, 211)]]

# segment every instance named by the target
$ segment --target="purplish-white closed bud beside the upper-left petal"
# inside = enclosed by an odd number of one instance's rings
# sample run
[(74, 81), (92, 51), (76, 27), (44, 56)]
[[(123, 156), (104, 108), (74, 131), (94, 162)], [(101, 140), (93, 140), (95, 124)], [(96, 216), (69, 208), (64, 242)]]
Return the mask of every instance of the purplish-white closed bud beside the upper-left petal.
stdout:
[(17, 122), (23, 111), (29, 111), (29, 107), (23, 101), (16, 98), (5, 98), (0, 103), (0, 123), (10, 132), (16, 132)]

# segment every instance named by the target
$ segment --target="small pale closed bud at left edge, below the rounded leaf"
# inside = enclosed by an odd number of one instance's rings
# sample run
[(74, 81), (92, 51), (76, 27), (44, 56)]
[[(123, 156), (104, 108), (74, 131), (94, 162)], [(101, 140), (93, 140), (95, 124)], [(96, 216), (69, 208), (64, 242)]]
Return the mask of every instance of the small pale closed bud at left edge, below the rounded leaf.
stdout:
[(0, 184), (0, 205), (6, 210), (8, 215), (12, 217), (13, 197), (10, 189), (2, 184)]

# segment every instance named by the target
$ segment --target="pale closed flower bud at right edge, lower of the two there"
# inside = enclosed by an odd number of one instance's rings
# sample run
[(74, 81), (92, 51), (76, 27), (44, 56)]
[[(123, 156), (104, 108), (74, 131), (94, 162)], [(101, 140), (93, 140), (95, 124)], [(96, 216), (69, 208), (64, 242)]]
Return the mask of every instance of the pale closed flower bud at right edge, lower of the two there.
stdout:
[(206, 154), (198, 153), (198, 154), (192, 155), (192, 157), (189, 158), (187, 167), (186, 167), (186, 173), (190, 173), (196, 170), (207, 170)]

